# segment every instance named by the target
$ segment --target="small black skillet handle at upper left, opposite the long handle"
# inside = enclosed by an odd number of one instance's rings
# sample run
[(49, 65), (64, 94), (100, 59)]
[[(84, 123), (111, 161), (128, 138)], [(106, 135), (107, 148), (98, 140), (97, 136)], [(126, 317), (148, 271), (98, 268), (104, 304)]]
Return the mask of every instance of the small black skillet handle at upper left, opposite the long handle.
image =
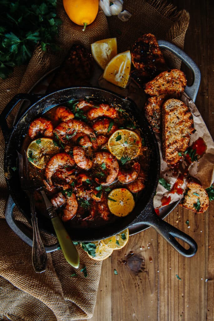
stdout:
[(4, 135), (5, 143), (7, 143), (9, 135), (10, 135), (10, 128), (7, 125), (7, 117), (13, 110), (13, 108), (18, 104), (20, 100), (29, 100), (30, 104), (33, 105), (37, 100), (39, 100), (42, 95), (38, 94), (17, 94), (15, 95), (11, 101), (5, 106), (2, 113), (0, 114), (0, 126), (2, 127), (2, 132)]

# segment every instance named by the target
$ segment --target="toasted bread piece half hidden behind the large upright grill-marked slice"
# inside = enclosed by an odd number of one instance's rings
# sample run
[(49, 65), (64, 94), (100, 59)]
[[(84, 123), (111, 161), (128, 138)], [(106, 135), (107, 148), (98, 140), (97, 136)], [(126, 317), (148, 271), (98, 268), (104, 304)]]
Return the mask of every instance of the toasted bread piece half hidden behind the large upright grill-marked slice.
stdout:
[(145, 117), (156, 133), (160, 133), (161, 107), (163, 102), (164, 95), (153, 96), (146, 101), (144, 106)]

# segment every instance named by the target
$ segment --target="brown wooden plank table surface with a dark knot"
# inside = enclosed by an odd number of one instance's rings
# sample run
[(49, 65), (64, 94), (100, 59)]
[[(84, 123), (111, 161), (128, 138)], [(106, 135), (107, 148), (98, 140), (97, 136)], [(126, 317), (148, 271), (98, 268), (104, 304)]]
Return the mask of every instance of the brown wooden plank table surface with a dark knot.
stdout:
[[(196, 106), (214, 137), (214, 4), (172, 3), (190, 13), (184, 51), (200, 68)], [(204, 214), (177, 206), (166, 221), (195, 239), (196, 255), (179, 255), (152, 228), (131, 236), (124, 248), (103, 261), (92, 321), (214, 320), (214, 201)], [(124, 264), (130, 251), (135, 264)]]

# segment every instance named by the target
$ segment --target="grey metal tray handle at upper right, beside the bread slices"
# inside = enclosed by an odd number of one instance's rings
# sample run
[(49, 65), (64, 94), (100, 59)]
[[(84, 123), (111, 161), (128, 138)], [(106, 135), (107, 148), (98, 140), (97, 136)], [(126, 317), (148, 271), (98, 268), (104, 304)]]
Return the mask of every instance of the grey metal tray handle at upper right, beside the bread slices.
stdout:
[(185, 92), (195, 102), (201, 82), (201, 73), (196, 63), (180, 48), (166, 40), (158, 40), (160, 48), (167, 49), (180, 58), (192, 71), (194, 81), (192, 86), (186, 86)]

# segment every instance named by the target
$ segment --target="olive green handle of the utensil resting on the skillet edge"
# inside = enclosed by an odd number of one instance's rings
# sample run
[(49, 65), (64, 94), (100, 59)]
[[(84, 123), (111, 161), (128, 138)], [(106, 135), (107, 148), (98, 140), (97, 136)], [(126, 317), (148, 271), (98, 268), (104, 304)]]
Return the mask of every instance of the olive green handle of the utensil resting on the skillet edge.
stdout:
[(61, 219), (56, 216), (51, 219), (56, 237), (61, 246), (63, 255), (66, 261), (76, 269), (79, 267), (79, 255), (76, 247), (74, 246), (70, 236), (68, 235), (66, 229), (64, 228)]

